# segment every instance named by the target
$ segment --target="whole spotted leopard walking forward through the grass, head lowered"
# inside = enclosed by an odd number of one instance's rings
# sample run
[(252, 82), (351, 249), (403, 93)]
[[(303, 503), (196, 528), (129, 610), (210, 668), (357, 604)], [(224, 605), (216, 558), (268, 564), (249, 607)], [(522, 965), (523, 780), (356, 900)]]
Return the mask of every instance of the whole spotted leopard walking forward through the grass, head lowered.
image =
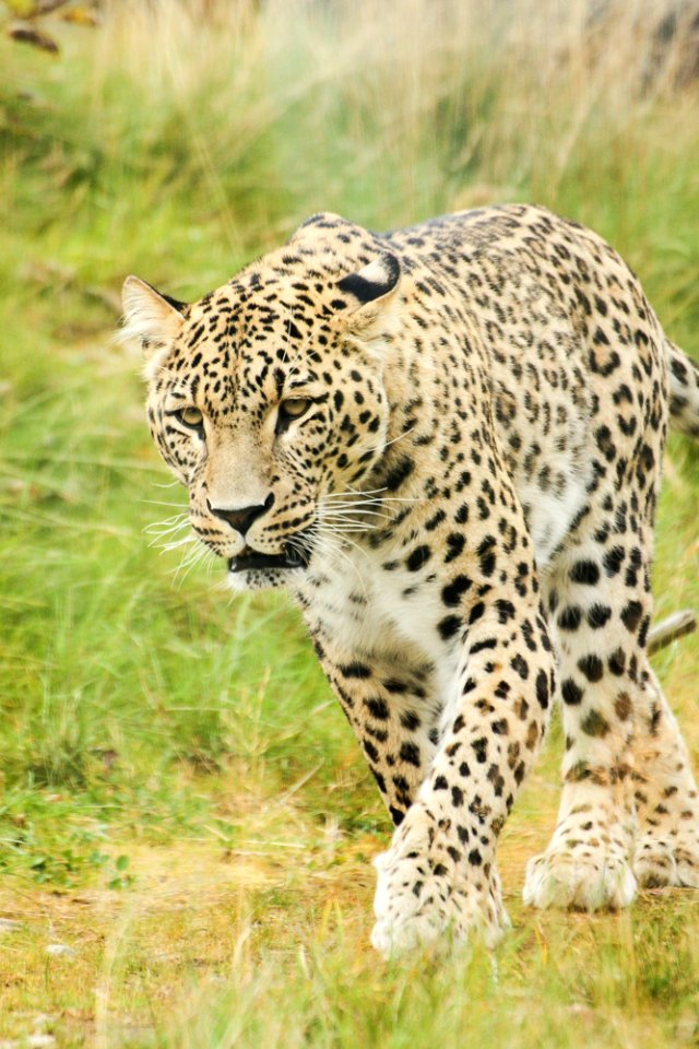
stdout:
[(589, 229), (524, 205), (377, 235), (313, 215), (185, 305), (129, 278), (147, 415), (236, 590), (284, 586), (394, 824), (374, 945), (494, 943), (498, 834), (552, 703), (536, 907), (699, 887), (699, 800), (649, 665), (667, 423), (699, 369)]

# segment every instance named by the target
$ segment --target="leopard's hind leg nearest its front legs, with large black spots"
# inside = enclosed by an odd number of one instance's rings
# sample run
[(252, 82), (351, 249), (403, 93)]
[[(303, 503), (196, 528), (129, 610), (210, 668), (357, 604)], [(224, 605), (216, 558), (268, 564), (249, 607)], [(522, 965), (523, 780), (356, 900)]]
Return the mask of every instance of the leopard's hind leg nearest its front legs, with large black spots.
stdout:
[(546, 581), (560, 663), (566, 736), (558, 823), (530, 860), (524, 901), (580, 910), (628, 906), (636, 895), (635, 780), (639, 732), (653, 688), (643, 651), (651, 617), (650, 527), (629, 540), (628, 508), (611, 515), (602, 546), (594, 514)]

